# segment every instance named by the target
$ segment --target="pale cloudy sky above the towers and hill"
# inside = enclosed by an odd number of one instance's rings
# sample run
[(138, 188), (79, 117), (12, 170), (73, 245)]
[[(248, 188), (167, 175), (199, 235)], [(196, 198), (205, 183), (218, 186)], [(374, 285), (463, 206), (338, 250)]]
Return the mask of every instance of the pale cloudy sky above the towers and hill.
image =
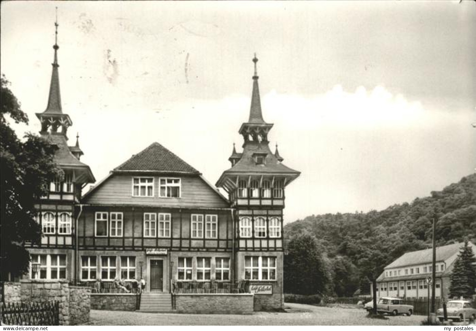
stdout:
[(285, 222), (382, 210), (475, 172), (475, 1), (2, 1), (1, 72), (38, 132), (53, 61), (97, 181), (157, 141), (215, 183), (248, 120), (288, 167)]

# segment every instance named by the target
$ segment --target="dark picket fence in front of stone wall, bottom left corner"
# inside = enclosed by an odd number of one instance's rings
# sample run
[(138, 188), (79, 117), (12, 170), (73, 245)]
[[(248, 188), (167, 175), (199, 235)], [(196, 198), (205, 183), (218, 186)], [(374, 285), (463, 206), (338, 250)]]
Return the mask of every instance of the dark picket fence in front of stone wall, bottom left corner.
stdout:
[(1, 302), (2, 325), (60, 325), (60, 302)]

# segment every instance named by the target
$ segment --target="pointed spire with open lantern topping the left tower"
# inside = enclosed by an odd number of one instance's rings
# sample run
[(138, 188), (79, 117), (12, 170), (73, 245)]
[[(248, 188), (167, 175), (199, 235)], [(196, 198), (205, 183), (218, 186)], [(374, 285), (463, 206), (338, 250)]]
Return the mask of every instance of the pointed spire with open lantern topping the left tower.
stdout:
[[(68, 127), (73, 124), (71, 119), (67, 114), (63, 114), (61, 108), (61, 94), (60, 94), (60, 75), (58, 73), (58, 7), (56, 7), (56, 20), (55, 20), (55, 44), (53, 49), (55, 50), (53, 63), (53, 69), (51, 71), (51, 82), (50, 82), (50, 94), (48, 95), (48, 105), (46, 110), (42, 113), (37, 113), (36, 116), (40, 119), (41, 122), (41, 131), (40, 133), (47, 133), (48, 129), (51, 128), (52, 134), (62, 134), (66, 136), (66, 131)], [(58, 128), (61, 128), (61, 131), (58, 132)]]

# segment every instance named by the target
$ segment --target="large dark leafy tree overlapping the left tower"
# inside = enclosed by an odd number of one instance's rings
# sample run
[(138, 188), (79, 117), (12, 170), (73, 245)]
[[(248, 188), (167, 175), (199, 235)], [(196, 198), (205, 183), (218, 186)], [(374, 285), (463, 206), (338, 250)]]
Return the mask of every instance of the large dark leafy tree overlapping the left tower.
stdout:
[(35, 221), (35, 202), (47, 194), (48, 186), (62, 171), (54, 163), (56, 147), (27, 133), (21, 141), (10, 127), (28, 124), (28, 116), (1, 76), (0, 110), (0, 279), (8, 280), (28, 271), (30, 255), (25, 241), (38, 242), (41, 229)]

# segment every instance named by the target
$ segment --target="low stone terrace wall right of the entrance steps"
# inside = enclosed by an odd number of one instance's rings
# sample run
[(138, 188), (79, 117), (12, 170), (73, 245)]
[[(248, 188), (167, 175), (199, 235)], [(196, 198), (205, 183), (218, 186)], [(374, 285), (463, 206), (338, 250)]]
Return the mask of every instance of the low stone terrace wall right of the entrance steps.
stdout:
[(188, 314), (252, 314), (253, 294), (175, 294), (175, 309)]

